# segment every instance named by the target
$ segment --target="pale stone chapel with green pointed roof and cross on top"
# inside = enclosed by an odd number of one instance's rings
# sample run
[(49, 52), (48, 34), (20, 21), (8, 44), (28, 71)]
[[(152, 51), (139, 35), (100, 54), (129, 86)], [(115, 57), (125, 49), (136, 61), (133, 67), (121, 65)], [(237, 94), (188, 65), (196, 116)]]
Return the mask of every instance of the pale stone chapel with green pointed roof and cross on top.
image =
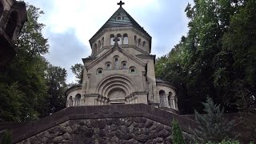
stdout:
[(155, 78), (150, 34), (122, 4), (90, 38), (82, 84), (66, 90), (66, 106), (144, 103), (178, 111), (176, 88)]

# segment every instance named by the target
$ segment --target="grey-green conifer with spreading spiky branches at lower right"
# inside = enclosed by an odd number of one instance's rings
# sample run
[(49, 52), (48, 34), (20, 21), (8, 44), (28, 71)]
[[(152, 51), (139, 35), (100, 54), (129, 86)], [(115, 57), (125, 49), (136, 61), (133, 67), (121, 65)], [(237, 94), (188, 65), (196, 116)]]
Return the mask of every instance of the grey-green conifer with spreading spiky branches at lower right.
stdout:
[(198, 129), (191, 130), (198, 142), (222, 142), (223, 139), (231, 136), (231, 129), (234, 127), (234, 120), (223, 118), (224, 110), (220, 105), (214, 104), (211, 98), (202, 103), (205, 106), (206, 114), (200, 115), (195, 110), (195, 119), (198, 122)]

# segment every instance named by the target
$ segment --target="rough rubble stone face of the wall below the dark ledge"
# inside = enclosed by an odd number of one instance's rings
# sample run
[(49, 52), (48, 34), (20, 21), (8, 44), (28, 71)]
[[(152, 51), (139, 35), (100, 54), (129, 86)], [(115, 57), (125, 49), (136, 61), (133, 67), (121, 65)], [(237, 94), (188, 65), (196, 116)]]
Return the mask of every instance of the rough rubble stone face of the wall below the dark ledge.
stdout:
[(98, 118), (69, 120), (18, 143), (171, 143), (171, 138), (170, 126), (148, 118)]

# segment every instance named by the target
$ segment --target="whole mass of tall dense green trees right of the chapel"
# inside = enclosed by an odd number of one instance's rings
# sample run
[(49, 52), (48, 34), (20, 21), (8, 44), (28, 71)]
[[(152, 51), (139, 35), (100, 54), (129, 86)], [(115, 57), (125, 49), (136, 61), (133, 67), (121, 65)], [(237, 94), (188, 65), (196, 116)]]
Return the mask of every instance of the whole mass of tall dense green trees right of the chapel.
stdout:
[(186, 7), (188, 34), (155, 66), (156, 77), (184, 94), (182, 113), (202, 112), (207, 95), (225, 112), (255, 112), (255, 10), (254, 0), (194, 0)]

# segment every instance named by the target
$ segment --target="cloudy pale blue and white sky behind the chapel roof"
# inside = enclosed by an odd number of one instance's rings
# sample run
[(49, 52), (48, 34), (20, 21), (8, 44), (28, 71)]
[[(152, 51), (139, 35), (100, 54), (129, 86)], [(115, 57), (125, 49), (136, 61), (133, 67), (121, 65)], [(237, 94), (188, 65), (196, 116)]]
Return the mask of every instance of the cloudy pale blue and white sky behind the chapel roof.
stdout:
[[(118, 10), (118, 0), (25, 0), (45, 12), (39, 19), (50, 44), (48, 61), (67, 70), (90, 55), (89, 39)], [(123, 0), (122, 6), (152, 37), (151, 54), (160, 57), (176, 45), (188, 28), (186, 5), (191, 0)]]

